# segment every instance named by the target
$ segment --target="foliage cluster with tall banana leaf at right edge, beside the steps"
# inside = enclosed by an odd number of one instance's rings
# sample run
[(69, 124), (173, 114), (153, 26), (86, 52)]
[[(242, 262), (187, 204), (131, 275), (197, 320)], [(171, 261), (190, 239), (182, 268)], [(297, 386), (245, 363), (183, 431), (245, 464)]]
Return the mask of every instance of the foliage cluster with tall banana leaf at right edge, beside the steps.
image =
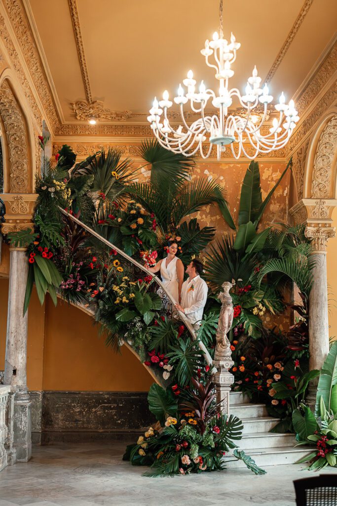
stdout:
[(309, 462), (310, 471), (337, 467), (337, 342), (332, 344), (321, 369), (315, 414), (301, 404), (293, 412), (293, 424), (298, 444), (315, 447), (298, 463)]

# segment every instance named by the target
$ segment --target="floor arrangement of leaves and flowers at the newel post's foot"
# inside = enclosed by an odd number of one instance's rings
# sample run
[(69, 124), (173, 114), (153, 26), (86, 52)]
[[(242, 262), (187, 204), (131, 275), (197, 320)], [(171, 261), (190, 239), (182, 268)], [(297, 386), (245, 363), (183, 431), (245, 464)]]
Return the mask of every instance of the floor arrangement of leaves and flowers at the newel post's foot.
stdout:
[(221, 471), (230, 461), (225, 455), (233, 450), (235, 459), (243, 460), (253, 473), (264, 474), (234, 443), (242, 437), (241, 421), (216, 413), (211, 378), (204, 386), (192, 377), (191, 387), (177, 402), (172, 390), (152, 385), (149, 408), (158, 423), (127, 447), (123, 459), (134, 466), (151, 466), (145, 476), (174, 476)]

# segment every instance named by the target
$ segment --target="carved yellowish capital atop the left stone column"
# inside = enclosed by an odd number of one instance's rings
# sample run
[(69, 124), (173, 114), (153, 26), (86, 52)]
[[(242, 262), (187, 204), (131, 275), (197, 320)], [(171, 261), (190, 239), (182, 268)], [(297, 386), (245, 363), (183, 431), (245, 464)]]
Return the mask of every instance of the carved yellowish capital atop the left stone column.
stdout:
[(33, 228), (36, 193), (3, 193), (0, 198), (6, 206), (5, 223), (1, 226), (3, 234)]

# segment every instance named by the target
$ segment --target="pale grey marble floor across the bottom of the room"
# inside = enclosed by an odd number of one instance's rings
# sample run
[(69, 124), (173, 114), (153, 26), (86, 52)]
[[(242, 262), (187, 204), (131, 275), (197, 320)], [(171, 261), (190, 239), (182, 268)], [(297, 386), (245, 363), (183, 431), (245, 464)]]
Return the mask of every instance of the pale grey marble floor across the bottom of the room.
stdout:
[(145, 478), (145, 468), (121, 460), (124, 447), (125, 443), (34, 447), (28, 463), (0, 473), (0, 506), (294, 506), (293, 480), (308, 476), (300, 465), (286, 465), (269, 466), (264, 476), (227, 469)]

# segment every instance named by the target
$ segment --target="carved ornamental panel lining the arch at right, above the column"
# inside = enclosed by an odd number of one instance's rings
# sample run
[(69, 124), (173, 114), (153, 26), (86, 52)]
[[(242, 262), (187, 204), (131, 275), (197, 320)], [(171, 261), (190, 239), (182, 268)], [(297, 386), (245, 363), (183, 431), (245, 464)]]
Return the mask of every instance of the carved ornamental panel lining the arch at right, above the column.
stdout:
[(337, 114), (325, 126), (318, 141), (313, 166), (311, 196), (329, 197), (331, 178), (334, 176), (332, 162), (337, 153)]

